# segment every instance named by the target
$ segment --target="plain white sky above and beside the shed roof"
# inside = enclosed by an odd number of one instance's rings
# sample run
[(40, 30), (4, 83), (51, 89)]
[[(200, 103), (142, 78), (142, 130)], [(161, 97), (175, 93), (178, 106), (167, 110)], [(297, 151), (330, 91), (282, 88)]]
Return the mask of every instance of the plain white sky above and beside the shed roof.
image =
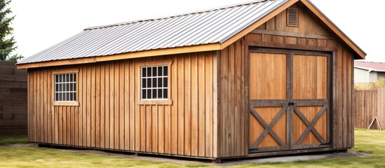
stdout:
[[(13, 36), (25, 57), (74, 36), (87, 27), (191, 13), (250, 0), (13, 0)], [(310, 0), (367, 53), (385, 62), (382, 0)]]

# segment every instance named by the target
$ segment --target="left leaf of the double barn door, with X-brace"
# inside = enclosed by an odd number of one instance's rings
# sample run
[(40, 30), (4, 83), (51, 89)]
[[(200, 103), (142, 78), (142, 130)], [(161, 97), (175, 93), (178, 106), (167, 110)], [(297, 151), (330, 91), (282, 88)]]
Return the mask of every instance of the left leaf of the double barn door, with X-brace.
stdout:
[(250, 152), (289, 149), (288, 56), (250, 52)]

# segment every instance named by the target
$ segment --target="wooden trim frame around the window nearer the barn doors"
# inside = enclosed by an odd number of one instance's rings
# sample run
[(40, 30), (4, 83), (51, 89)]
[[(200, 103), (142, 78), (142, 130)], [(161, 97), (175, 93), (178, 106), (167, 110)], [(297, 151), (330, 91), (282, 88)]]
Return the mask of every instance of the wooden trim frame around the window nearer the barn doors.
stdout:
[[(171, 64), (173, 64), (173, 60), (166, 61), (156, 61), (156, 62), (140, 62), (137, 63), (137, 76), (135, 80), (137, 80), (137, 104), (151, 104), (151, 105), (172, 105), (173, 100), (171, 99)], [(167, 73), (167, 82), (168, 82), (168, 90), (167, 99), (142, 99), (142, 67), (143, 66), (168, 66)]]

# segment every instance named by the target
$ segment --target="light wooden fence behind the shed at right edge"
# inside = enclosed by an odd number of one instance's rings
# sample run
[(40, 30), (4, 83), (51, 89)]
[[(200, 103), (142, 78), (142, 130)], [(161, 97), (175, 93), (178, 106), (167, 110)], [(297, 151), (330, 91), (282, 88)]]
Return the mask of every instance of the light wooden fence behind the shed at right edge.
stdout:
[[(382, 129), (385, 128), (385, 87), (376, 90), (354, 90), (355, 127), (367, 128), (374, 117), (379, 119)], [(375, 121), (372, 129), (378, 129)]]

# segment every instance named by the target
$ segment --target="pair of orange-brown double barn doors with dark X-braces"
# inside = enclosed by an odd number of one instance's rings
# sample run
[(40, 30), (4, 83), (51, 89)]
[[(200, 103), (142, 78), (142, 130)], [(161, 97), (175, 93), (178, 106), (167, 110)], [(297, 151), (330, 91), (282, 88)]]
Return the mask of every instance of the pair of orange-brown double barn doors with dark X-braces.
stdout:
[(249, 152), (328, 147), (330, 56), (250, 50)]

